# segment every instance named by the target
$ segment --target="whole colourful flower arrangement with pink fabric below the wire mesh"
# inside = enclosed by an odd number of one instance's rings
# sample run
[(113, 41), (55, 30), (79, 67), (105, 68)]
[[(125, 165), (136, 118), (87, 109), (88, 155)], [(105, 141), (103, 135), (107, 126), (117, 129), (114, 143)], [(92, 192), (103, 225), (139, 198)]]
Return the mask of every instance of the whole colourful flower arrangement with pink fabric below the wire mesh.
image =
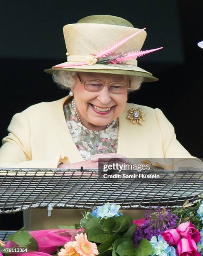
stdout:
[(75, 226), (18, 230), (6, 245), (0, 241), (0, 256), (203, 256), (202, 201), (173, 210), (155, 207), (134, 221), (119, 208), (106, 203), (84, 212)]

